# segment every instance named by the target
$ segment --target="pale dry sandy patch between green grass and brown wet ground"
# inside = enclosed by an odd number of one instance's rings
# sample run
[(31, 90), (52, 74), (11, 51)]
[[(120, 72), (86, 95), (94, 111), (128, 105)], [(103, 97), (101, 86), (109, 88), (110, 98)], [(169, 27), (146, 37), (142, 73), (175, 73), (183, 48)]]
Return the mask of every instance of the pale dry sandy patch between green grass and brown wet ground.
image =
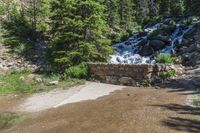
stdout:
[(88, 82), (85, 85), (73, 87), (69, 90), (55, 89), (48, 93), (44, 92), (32, 95), (24, 99), (13, 110), (17, 110), (18, 112), (39, 112), (69, 103), (94, 100), (122, 88), (124, 86)]

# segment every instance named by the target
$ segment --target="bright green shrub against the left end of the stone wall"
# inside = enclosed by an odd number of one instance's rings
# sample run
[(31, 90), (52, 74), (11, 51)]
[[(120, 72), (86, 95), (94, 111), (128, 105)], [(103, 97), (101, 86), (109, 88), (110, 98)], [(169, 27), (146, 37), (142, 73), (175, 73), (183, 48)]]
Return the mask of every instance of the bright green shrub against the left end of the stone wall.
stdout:
[(66, 77), (87, 79), (88, 78), (88, 65), (86, 63), (81, 63), (77, 66), (72, 66), (66, 69)]

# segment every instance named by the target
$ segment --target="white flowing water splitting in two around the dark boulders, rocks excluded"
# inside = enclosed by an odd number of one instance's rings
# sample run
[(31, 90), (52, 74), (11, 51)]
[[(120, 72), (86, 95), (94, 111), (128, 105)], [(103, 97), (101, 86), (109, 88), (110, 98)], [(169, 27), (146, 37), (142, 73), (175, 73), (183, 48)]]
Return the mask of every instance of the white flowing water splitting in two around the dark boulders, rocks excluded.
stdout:
[[(153, 60), (153, 55), (149, 56), (141, 56), (139, 54), (139, 51), (141, 49), (141, 42), (144, 40), (147, 40), (147, 43), (145, 45), (148, 45), (149, 40), (148, 36), (159, 29), (163, 29), (163, 27), (169, 26), (169, 24), (166, 24), (169, 22), (170, 18), (165, 19), (161, 23), (157, 23), (153, 26), (145, 26), (144, 27), (144, 33), (135, 33), (132, 37), (130, 37), (126, 42), (117, 43), (114, 44), (113, 47), (115, 49), (115, 54), (111, 55), (111, 59), (109, 60), (109, 63), (111, 64), (154, 64), (155, 61)], [(159, 53), (171, 53), (177, 45), (181, 45), (183, 41), (183, 37), (186, 33), (189, 33), (192, 31), (194, 25), (198, 22), (200, 22), (199, 18), (195, 18), (195, 23), (189, 25), (189, 26), (181, 26), (181, 23), (185, 19), (179, 19), (174, 21), (176, 24), (174, 31), (171, 35), (169, 35), (169, 44), (167, 44), (163, 49), (160, 49)]]

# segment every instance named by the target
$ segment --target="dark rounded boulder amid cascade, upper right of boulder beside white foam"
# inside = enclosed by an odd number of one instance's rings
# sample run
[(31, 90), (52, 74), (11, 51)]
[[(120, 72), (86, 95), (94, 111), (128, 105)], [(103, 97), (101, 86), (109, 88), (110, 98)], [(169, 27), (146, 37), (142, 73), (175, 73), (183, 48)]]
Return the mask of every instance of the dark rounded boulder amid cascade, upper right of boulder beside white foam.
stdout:
[(150, 40), (149, 46), (152, 47), (155, 51), (163, 49), (166, 46), (166, 43), (161, 40)]

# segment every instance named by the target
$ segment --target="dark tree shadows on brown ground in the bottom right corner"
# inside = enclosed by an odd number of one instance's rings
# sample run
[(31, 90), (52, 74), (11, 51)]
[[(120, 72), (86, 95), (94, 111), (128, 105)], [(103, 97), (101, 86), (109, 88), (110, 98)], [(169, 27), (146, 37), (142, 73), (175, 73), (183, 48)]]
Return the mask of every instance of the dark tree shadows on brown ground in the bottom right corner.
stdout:
[[(161, 107), (162, 109), (174, 111), (179, 117), (168, 117), (166, 120), (162, 120), (161, 124), (167, 126), (168, 128), (174, 129), (176, 131), (199, 133), (200, 132), (200, 108), (191, 107), (187, 105), (179, 104), (167, 104), (167, 105), (155, 105), (156, 107)], [(194, 117), (187, 117), (185, 115), (192, 115)], [(196, 117), (195, 117), (196, 116)]]

